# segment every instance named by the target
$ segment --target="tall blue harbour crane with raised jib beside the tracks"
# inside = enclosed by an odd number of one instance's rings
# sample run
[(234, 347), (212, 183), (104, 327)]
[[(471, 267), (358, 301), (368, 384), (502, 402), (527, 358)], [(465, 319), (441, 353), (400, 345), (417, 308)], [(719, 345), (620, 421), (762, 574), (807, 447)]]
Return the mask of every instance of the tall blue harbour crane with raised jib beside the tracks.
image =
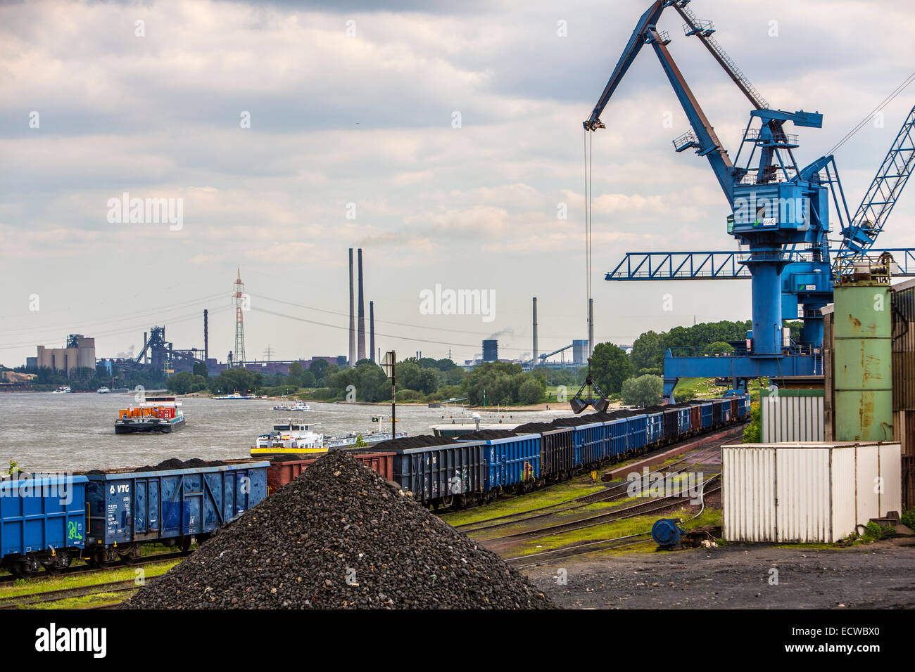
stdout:
[[(738, 388), (752, 378), (822, 374), (821, 308), (832, 301), (836, 264), (883, 252), (871, 246), (908, 181), (915, 159), (913, 109), (856, 217), (850, 217), (834, 156), (799, 165), (794, 156), (800, 146), (798, 135), (786, 131), (789, 123), (794, 128), (822, 128), (823, 115), (773, 110), (717, 42), (712, 22), (697, 19), (689, 3), (656, 0), (651, 4), (584, 123), (586, 133), (606, 128), (600, 117), (610, 98), (640, 49), (650, 45), (691, 126), (673, 141), (674, 150), (692, 149), (705, 157), (732, 211), (727, 232), (737, 239), (740, 251), (632, 253), (606, 276), (614, 281), (748, 278), (752, 283), (752, 330), (745, 347), (737, 348), (733, 357), (669, 350), (664, 357), (664, 394), (669, 399), (673, 399), (677, 379), (684, 377), (727, 377)], [(668, 49), (669, 34), (657, 26), (667, 8), (683, 18), (684, 35), (703, 43), (750, 102), (749, 122), (733, 160), (677, 67)], [(838, 250), (831, 250), (828, 240), (831, 205), (842, 225), (843, 242)], [(903, 261), (899, 274), (915, 274), (912, 251), (891, 252)], [(803, 321), (803, 331), (801, 341), (795, 343), (782, 320), (798, 318)]]

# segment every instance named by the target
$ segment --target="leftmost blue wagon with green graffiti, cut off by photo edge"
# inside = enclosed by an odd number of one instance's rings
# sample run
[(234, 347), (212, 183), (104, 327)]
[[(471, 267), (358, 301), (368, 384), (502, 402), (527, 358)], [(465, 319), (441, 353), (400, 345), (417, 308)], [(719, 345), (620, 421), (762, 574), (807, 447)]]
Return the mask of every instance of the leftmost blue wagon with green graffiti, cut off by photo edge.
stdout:
[(0, 560), (26, 576), (63, 569), (85, 547), (86, 484), (81, 475), (0, 481)]

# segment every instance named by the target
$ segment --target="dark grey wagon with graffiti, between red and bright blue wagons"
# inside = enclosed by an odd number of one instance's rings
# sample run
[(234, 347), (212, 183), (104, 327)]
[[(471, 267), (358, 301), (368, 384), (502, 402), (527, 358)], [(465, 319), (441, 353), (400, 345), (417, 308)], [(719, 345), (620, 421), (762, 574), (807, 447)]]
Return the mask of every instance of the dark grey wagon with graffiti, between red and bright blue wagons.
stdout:
[(488, 448), (470, 441), (394, 450), (394, 481), (427, 506), (468, 506), (489, 492)]

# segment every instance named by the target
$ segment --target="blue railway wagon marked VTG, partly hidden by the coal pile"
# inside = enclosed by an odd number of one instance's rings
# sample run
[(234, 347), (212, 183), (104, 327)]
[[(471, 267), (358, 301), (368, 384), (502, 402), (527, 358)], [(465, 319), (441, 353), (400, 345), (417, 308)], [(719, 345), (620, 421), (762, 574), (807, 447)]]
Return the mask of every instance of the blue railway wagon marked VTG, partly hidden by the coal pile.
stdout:
[(267, 496), (267, 462), (86, 474), (84, 555), (104, 567), (141, 555), (145, 543), (178, 546), (210, 534)]

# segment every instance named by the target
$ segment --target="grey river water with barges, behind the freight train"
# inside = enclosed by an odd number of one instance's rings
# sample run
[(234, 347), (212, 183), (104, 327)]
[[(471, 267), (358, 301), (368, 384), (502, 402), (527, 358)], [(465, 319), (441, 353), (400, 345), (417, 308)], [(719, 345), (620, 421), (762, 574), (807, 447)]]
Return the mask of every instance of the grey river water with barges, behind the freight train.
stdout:
[[(152, 394), (152, 393), (150, 393)], [(115, 434), (118, 410), (134, 402), (133, 393), (9, 392), (0, 394), (0, 469), (16, 460), (26, 471), (80, 471), (158, 464), (171, 457), (205, 460), (248, 457), (259, 434), (290, 415), (315, 423), (327, 435), (390, 430), (391, 407), (310, 401), (313, 411), (274, 411), (275, 400), (182, 399), (187, 424), (172, 434)], [(565, 406), (565, 405), (564, 405)], [(383, 414), (379, 427), (371, 416)], [(562, 411), (495, 411), (483, 422), (550, 421)], [(430, 434), (429, 426), (469, 418), (468, 411), (398, 406), (397, 431)]]

